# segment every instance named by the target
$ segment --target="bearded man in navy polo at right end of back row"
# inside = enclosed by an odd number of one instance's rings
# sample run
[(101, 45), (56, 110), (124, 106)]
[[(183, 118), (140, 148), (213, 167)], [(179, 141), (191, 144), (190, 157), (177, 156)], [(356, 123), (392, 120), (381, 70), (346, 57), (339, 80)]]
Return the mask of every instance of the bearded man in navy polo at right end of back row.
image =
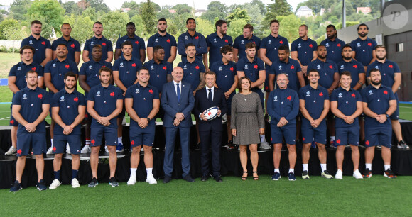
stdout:
[(366, 24), (359, 24), (357, 27), (359, 37), (350, 43), (353, 50), (353, 57), (364, 65), (365, 71), (369, 64), (375, 62), (375, 47), (378, 45), (375, 40), (368, 38), (368, 31), (369, 27)]

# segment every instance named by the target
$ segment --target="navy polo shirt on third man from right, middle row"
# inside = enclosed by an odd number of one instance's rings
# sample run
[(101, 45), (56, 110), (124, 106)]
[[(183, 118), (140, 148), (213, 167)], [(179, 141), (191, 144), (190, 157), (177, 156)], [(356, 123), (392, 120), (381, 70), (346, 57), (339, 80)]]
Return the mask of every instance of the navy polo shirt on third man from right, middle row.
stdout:
[(326, 59), (326, 62), (319, 60), (319, 58), (313, 60), (308, 65), (308, 72), (311, 69), (318, 70), (320, 76), (318, 81), (319, 85), (325, 88), (332, 86), (333, 77), (335, 76), (335, 73), (338, 73), (336, 63), (328, 59)]

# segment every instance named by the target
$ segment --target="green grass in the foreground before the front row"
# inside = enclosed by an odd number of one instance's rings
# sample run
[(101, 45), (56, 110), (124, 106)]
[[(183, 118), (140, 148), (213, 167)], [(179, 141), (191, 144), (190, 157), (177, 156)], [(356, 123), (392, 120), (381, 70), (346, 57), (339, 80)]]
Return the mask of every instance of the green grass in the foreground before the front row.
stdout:
[(223, 177), (224, 182), (134, 186), (120, 183), (94, 189), (70, 185), (38, 191), (29, 187), (16, 193), (0, 190), (1, 216), (410, 216), (412, 177), (387, 179), (327, 180), (311, 177), (289, 182), (286, 177), (272, 181), (249, 177)]

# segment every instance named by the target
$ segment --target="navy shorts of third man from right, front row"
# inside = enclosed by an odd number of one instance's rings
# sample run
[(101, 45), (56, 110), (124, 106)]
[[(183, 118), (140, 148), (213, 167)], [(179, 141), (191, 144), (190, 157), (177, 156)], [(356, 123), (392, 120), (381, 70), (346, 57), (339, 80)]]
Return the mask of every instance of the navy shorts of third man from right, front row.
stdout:
[(312, 138), (315, 138), (316, 143), (326, 143), (326, 121), (320, 122), (317, 128), (310, 126), (310, 122), (306, 118), (302, 118), (302, 141), (303, 144), (312, 143)]

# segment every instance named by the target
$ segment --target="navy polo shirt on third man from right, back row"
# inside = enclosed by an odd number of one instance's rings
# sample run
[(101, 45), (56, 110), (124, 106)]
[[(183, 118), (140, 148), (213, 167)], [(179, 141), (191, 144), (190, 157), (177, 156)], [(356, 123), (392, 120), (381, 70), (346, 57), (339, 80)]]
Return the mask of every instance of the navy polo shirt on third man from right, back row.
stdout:
[(312, 61), (313, 51), (316, 51), (317, 48), (318, 44), (310, 38), (303, 40), (299, 37), (291, 45), (291, 51), (298, 52), (298, 60), (303, 66), (308, 65)]

